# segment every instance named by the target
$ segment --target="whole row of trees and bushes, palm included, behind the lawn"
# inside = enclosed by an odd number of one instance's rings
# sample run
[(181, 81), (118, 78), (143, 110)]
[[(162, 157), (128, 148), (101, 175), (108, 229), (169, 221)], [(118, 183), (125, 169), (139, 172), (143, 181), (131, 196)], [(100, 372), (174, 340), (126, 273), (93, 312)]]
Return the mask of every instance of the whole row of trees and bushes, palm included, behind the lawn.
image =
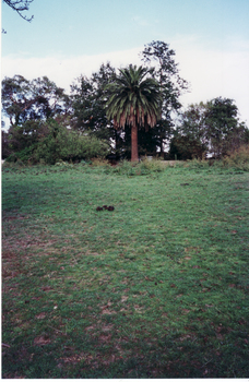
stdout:
[(106, 63), (90, 77), (81, 75), (70, 95), (47, 76), (5, 77), (2, 110), (10, 128), (2, 131), (3, 158), (55, 164), (115, 153), (132, 160), (189, 159), (222, 157), (248, 144), (233, 99), (217, 97), (182, 111), (179, 99), (189, 85), (169, 45), (152, 41), (140, 56), (139, 68)]

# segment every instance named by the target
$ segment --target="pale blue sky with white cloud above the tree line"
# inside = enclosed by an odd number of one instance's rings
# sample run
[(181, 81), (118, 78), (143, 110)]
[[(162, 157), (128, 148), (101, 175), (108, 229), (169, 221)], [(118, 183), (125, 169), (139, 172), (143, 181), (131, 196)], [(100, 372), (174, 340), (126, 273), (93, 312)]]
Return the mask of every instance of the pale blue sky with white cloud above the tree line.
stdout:
[(232, 98), (249, 127), (249, 0), (34, 0), (24, 21), (1, 8), (1, 79), (48, 76), (70, 93), (102, 63), (141, 64), (153, 40), (175, 50), (190, 84), (183, 109)]

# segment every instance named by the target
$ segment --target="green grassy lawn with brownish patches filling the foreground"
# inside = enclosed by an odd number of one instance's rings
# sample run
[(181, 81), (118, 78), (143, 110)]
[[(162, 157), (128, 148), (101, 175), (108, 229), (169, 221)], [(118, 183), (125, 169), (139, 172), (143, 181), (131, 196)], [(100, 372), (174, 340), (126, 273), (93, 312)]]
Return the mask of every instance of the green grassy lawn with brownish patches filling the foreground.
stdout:
[(215, 167), (3, 167), (2, 377), (248, 378), (248, 191)]

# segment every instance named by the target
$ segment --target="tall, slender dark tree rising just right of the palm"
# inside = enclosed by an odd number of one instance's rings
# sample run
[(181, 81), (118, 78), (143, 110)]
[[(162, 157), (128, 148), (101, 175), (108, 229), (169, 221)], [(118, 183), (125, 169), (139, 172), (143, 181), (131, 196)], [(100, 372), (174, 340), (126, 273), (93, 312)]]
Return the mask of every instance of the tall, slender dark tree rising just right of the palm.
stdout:
[(162, 156), (164, 155), (165, 142), (170, 138), (174, 126), (173, 115), (181, 107), (179, 97), (182, 92), (188, 89), (187, 81), (179, 75), (175, 55), (175, 51), (169, 49), (168, 44), (158, 40), (145, 45), (141, 53), (143, 62), (155, 68), (153, 75), (159, 83), (162, 93), (161, 118), (153, 130)]

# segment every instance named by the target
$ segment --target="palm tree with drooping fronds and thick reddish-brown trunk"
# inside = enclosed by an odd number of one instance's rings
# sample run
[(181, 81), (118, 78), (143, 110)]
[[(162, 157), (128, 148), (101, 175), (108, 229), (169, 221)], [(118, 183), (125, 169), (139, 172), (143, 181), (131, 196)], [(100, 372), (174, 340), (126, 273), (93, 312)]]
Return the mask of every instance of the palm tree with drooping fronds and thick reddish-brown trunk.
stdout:
[(152, 76), (153, 70), (137, 65), (119, 69), (116, 80), (106, 86), (107, 118), (116, 129), (131, 127), (131, 160), (139, 160), (138, 129), (153, 128), (159, 117), (159, 84)]

